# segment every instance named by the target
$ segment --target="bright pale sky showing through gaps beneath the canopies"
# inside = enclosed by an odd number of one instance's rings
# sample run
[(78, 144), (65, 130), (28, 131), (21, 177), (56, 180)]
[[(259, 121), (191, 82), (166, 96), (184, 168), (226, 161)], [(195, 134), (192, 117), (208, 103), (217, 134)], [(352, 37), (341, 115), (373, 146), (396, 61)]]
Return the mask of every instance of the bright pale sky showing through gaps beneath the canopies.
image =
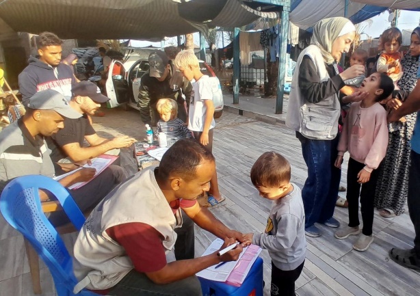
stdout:
[[(363, 26), (366, 26), (363, 30), (371, 38), (378, 38), (382, 31), (391, 27), (391, 22), (388, 21), (389, 12), (385, 11), (382, 14), (378, 14), (371, 18), (373, 21), (371, 25), (367, 22), (363, 23)], [(420, 23), (420, 12), (411, 12), (408, 10), (402, 10), (401, 14), (399, 15), (397, 27), (398, 29), (415, 29), (415, 27), (419, 26)], [(367, 36), (363, 34), (362, 40), (367, 39)], [(168, 46), (170, 44), (176, 44), (176, 38), (169, 38), (165, 41), (164, 46)], [(194, 33), (194, 43), (199, 44), (199, 37), (198, 33)], [(148, 41), (140, 41), (140, 40), (131, 40), (131, 46), (161, 46), (161, 42), (148, 42)]]

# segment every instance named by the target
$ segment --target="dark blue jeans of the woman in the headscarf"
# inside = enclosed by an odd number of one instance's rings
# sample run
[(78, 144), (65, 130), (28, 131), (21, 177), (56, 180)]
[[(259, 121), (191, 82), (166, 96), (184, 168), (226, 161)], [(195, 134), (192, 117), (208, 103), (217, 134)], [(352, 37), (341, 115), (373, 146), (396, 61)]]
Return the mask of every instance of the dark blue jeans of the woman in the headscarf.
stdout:
[(308, 139), (296, 132), (302, 155), (308, 167), (308, 178), (302, 189), (305, 228), (324, 223), (334, 214), (339, 193), (341, 170), (334, 167), (339, 136), (332, 140)]

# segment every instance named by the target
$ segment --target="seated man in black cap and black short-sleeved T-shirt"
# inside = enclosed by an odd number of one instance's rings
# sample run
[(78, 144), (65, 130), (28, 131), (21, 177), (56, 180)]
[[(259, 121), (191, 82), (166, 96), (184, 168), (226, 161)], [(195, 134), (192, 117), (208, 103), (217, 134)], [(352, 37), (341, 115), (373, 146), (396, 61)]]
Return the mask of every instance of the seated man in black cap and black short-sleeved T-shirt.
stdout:
[[(90, 123), (89, 116), (101, 107), (100, 103), (109, 100), (101, 94), (101, 90), (92, 82), (81, 81), (72, 88), (70, 107), (81, 115), (80, 118), (64, 120), (64, 129), (58, 131), (48, 140), (51, 152), (51, 159), (57, 162), (66, 162), (64, 159), (70, 157), (70, 161), (83, 161), (92, 159), (116, 148), (129, 147), (135, 139), (122, 136), (114, 139), (99, 137)], [(90, 144), (83, 147), (83, 141)], [(115, 151), (117, 155), (119, 150)], [(68, 159), (67, 159), (68, 160)]]

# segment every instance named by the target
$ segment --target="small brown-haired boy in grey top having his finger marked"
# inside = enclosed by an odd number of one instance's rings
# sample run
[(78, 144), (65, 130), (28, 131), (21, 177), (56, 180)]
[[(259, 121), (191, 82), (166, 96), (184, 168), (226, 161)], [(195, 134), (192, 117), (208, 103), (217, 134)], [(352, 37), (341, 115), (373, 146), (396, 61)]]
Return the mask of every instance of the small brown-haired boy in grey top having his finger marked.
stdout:
[(244, 234), (244, 239), (268, 250), (272, 258), (272, 296), (295, 295), (306, 256), (302, 192), (290, 177), (289, 161), (276, 152), (262, 154), (251, 169), (259, 195), (273, 203), (265, 232)]

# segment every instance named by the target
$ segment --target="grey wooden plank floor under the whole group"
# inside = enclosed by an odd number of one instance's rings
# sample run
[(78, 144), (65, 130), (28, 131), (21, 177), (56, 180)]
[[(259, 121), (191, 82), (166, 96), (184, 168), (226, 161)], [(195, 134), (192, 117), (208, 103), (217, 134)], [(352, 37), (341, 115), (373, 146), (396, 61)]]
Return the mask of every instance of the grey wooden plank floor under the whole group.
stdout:
[[(129, 134), (142, 139), (144, 130), (138, 113), (113, 111), (105, 118), (95, 118), (94, 127), (101, 135)], [(112, 122), (112, 124), (111, 124)], [(138, 122), (138, 123), (137, 123)], [(286, 127), (274, 126), (224, 113), (217, 122), (214, 137), (214, 154), (218, 168), (219, 186), (226, 196), (226, 203), (211, 211), (227, 226), (242, 232), (262, 232), (265, 229), (270, 202), (258, 196), (249, 179), (250, 167), (265, 151), (274, 150), (285, 155), (292, 165), (292, 181), (302, 187), (306, 179), (306, 165), (300, 144), (294, 133)], [(110, 128), (109, 126), (112, 126)], [(133, 174), (135, 163), (130, 150), (122, 153), (122, 166)], [(345, 185), (345, 161), (342, 185)], [(334, 217), (347, 223), (347, 210), (336, 208)], [(352, 250), (356, 237), (337, 240), (332, 228), (319, 226), (323, 235), (307, 238), (306, 263), (296, 286), (296, 293), (303, 295), (420, 295), (420, 273), (405, 269), (388, 258), (391, 247), (410, 247), (414, 229), (404, 213), (393, 219), (384, 219), (376, 213), (373, 224), (374, 243), (367, 252)], [(76, 234), (65, 236), (71, 247)], [(200, 256), (214, 239), (212, 234), (196, 231), (196, 256)], [(265, 294), (270, 295), (270, 257), (264, 259)], [(23, 238), (0, 217), (0, 296), (33, 295), (29, 267)], [(42, 265), (43, 295), (55, 295), (51, 275)]]

